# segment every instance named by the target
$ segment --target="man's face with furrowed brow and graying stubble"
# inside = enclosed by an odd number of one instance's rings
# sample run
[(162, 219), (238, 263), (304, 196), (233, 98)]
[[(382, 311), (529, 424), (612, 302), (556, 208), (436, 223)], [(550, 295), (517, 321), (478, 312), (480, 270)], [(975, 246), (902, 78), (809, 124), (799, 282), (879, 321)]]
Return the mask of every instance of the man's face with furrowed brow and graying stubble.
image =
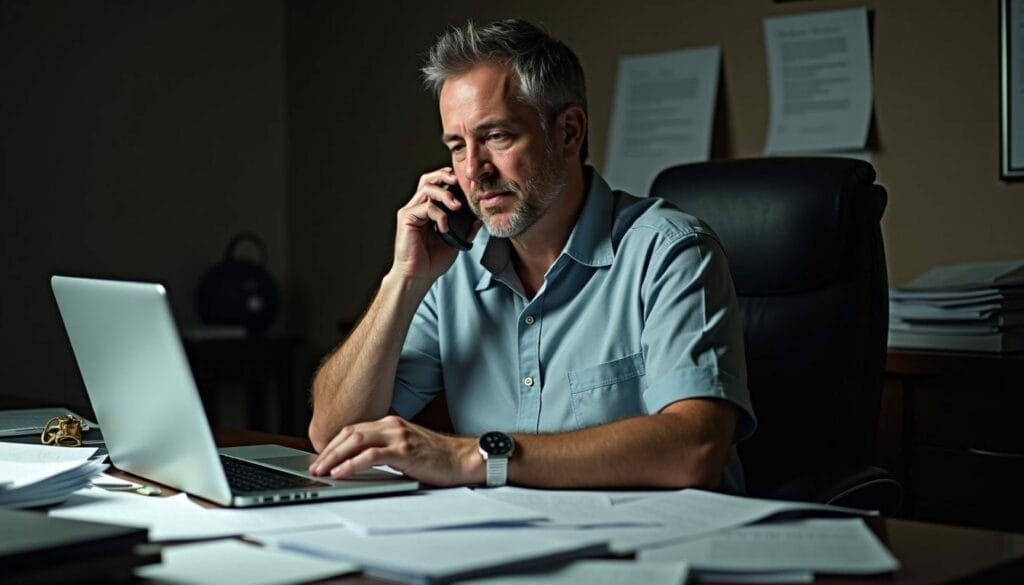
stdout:
[(450, 78), (440, 92), (452, 166), (473, 212), (498, 238), (525, 233), (566, 180), (564, 161), (537, 112), (516, 98), (517, 86), (507, 67), (480, 65)]

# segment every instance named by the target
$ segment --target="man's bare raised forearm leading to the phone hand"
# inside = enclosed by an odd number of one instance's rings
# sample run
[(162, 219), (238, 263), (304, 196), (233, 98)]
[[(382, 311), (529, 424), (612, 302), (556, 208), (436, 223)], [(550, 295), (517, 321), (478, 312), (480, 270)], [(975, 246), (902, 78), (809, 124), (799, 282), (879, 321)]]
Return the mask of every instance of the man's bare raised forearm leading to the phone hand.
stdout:
[(321, 365), (309, 423), (316, 451), (345, 425), (387, 414), (401, 345), (428, 288), (422, 281), (384, 277), (351, 335)]

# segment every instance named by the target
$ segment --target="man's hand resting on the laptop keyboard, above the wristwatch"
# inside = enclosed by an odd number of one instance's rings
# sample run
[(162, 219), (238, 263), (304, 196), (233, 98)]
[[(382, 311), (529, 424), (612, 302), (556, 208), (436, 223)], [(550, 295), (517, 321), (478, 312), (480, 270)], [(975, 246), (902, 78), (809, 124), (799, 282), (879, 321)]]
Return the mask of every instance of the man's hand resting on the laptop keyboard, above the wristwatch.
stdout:
[(475, 440), (439, 434), (397, 416), (342, 428), (309, 472), (344, 479), (374, 465), (390, 465), (431, 486), (483, 483)]

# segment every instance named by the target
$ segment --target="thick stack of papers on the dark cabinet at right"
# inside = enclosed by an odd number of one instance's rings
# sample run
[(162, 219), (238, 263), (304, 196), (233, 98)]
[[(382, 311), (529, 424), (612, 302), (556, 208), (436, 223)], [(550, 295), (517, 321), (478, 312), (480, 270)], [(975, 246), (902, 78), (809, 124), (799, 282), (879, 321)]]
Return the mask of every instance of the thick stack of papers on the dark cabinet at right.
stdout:
[(1024, 260), (937, 266), (892, 289), (889, 346), (1024, 351)]

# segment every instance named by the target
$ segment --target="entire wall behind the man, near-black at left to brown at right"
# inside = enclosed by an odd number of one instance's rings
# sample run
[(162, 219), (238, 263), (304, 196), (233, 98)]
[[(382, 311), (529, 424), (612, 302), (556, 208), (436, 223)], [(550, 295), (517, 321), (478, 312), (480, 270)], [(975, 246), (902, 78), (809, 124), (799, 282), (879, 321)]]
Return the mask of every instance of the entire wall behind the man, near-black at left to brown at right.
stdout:
[(272, 333), (301, 340), (301, 404), (387, 267), (395, 210), (443, 161), (417, 67), (470, 16), (525, 16), (578, 51), (600, 168), (620, 55), (721, 44), (716, 142), (756, 156), (764, 16), (867, 6), (891, 281), (1024, 256), (1024, 185), (997, 178), (997, 5), (0, 0), (0, 394), (86, 403), (51, 274), (163, 282), (190, 328), (201, 275), (250, 229), (284, 293)]

